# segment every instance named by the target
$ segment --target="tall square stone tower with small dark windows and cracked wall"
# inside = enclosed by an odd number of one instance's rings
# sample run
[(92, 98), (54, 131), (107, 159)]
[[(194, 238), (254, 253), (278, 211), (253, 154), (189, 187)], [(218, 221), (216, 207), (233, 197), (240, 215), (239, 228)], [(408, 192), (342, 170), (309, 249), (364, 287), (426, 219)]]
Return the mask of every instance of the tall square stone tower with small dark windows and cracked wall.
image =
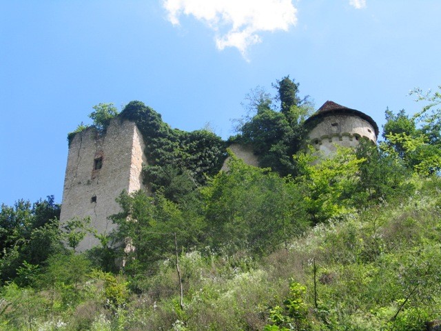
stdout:
[[(114, 224), (107, 219), (120, 212), (115, 199), (125, 190), (146, 189), (142, 165), (147, 163), (144, 142), (135, 123), (113, 119), (105, 134), (95, 128), (77, 133), (69, 146), (61, 223), (74, 217), (90, 217), (99, 233), (109, 233)], [(88, 250), (99, 242), (88, 235), (78, 250)]]

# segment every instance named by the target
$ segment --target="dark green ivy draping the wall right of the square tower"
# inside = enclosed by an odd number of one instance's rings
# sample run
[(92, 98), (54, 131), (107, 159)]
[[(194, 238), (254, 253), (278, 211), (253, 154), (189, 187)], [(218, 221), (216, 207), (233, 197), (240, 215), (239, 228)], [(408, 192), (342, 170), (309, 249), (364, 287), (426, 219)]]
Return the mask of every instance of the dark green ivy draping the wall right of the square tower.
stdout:
[(144, 167), (145, 181), (154, 192), (165, 190), (165, 196), (174, 201), (216, 174), (226, 157), (225, 143), (216, 134), (172, 129), (158, 112), (140, 101), (128, 103), (121, 116), (134, 121), (143, 134), (149, 160)]

